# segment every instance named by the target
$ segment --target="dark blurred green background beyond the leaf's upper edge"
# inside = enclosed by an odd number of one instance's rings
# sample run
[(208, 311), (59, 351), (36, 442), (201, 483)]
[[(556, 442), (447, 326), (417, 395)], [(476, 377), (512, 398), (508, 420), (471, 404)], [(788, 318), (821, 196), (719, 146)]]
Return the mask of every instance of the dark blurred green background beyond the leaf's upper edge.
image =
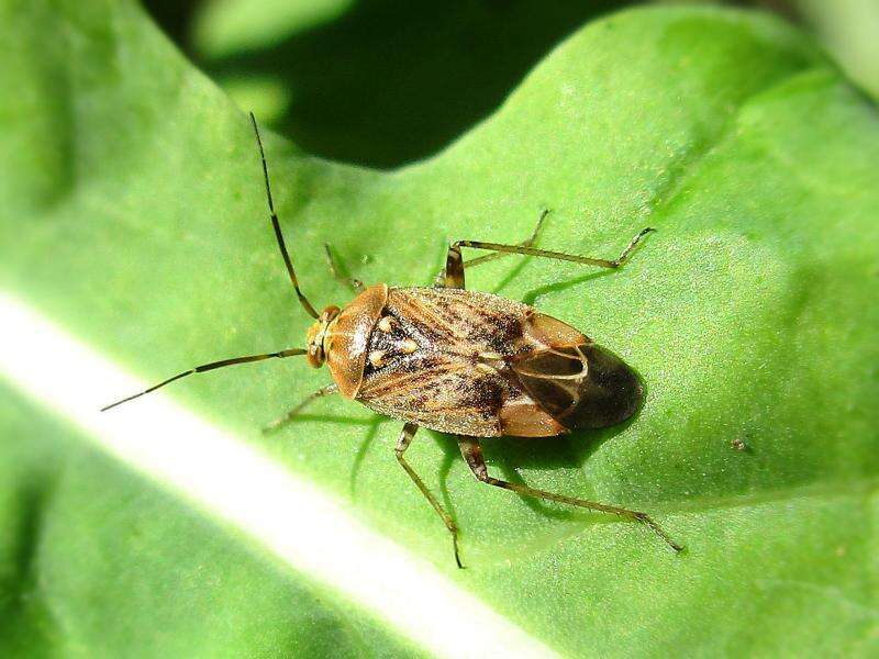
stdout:
[[(644, 4), (645, 2), (641, 2)], [(879, 2), (755, 0), (814, 32), (879, 94)], [(390, 168), (491, 113), (553, 46), (621, 0), (146, 0), (245, 110), (305, 150)]]

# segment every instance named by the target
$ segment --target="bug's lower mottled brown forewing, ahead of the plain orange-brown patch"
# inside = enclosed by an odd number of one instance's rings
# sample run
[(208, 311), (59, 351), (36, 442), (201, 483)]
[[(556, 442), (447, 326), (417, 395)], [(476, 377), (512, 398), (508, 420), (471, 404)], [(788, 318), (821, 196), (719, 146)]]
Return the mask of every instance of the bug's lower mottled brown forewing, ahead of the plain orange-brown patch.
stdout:
[(357, 400), (381, 414), (444, 433), (497, 437), (508, 382), (457, 355), (419, 350), (365, 375)]

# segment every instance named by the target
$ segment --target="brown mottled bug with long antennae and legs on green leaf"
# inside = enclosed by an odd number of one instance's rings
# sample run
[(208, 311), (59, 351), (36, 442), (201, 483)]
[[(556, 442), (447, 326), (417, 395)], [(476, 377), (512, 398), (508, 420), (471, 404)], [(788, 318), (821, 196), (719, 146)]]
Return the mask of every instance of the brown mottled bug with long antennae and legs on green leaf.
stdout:
[[(396, 447), (397, 460), (452, 534), (458, 567), (463, 566), (455, 522), (404, 457), (419, 427), (455, 435), (461, 456), (482, 483), (641, 522), (676, 551), (682, 549), (645, 513), (554, 494), (489, 474), (481, 438), (550, 437), (574, 429), (611, 426), (637, 411), (643, 391), (628, 366), (570, 325), (526, 304), (465, 289), (465, 268), (507, 254), (615, 269), (652, 230), (638, 233), (614, 260), (535, 249), (531, 246), (534, 236), (519, 245), (457, 241), (448, 248), (445, 269), (432, 288), (391, 288), (385, 283), (365, 287), (349, 279), (347, 283), (357, 293), (354, 300), (344, 309), (331, 305), (318, 313), (302, 292), (287, 252), (253, 113), (251, 121), (275, 237), (296, 295), (315, 320), (308, 331), (307, 347), (203, 364), (103, 410), (192, 373), (305, 356), (314, 368), (326, 364), (333, 382), (312, 393), (270, 427), (282, 425), (314, 400), (335, 393), (403, 421)], [(546, 211), (541, 220), (545, 214)], [(465, 263), (463, 247), (491, 254)], [(327, 257), (333, 273), (340, 277), (329, 249)]]

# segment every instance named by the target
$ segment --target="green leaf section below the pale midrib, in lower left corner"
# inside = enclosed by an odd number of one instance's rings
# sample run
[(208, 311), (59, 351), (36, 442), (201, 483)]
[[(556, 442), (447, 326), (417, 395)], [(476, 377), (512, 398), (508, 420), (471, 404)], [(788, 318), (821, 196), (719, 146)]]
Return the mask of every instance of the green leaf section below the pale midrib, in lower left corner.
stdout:
[(8, 387), (0, 394), (4, 656), (416, 654)]

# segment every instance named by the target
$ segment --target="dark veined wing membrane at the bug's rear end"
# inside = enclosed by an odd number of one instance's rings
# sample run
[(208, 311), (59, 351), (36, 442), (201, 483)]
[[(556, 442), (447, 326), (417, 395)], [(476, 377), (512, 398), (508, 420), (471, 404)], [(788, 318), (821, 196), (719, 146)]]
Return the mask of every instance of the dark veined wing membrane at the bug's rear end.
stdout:
[(592, 343), (535, 351), (511, 366), (525, 391), (568, 429), (615, 425), (641, 404), (634, 371)]

